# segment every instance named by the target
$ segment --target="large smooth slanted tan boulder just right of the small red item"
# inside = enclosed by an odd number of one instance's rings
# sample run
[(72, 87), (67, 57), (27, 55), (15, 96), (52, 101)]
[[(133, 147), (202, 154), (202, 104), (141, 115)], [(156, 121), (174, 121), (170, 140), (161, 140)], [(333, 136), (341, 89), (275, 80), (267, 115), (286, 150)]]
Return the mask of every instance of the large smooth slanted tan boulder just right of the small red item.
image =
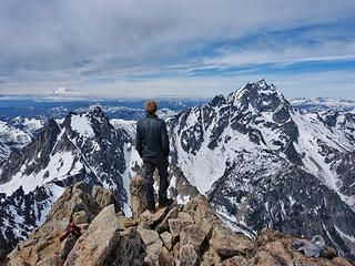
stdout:
[(65, 266), (100, 266), (119, 241), (114, 205), (104, 207), (68, 255)]

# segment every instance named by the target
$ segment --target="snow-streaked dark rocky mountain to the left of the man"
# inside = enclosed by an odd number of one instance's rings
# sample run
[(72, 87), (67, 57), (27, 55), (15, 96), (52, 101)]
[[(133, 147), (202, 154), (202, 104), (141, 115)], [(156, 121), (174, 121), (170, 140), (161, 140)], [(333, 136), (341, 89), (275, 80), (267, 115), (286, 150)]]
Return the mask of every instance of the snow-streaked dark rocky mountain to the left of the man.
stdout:
[(43, 223), (64, 187), (78, 181), (110, 188), (129, 212), (126, 139), (97, 108), (70, 113), (61, 124), (50, 120), (33, 142), (0, 162), (0, 249), (11, 250)]

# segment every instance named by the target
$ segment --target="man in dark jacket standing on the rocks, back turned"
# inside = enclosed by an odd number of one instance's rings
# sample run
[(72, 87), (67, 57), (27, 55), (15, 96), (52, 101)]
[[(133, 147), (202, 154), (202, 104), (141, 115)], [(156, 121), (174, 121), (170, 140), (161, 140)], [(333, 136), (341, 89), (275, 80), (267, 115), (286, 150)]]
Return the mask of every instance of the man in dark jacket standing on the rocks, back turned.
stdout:
[(165, 207), (172, 203), (166, 196), (168, 183), (168, 156), (169, 136), (166, 124), (155, 114), (158, 106), (154, 101), (144, 104), (146, 116), (136, 123), (135, 149), (143, 158), (143, 171), (145, 180), (145, 193), (148, 209), (155, 212), (154, 201), (154, 170), (159, 171), (159, 207)]

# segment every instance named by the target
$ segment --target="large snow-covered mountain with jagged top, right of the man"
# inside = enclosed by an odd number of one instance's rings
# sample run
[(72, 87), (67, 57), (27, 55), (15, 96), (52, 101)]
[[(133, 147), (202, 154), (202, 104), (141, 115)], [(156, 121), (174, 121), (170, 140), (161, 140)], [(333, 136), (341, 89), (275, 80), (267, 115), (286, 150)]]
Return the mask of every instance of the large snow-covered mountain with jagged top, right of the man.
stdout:
[(322, 234), (354, 259), (354, 114), (294, 109), (262, 80), (169, 127), (173, 163), (231, 226)]

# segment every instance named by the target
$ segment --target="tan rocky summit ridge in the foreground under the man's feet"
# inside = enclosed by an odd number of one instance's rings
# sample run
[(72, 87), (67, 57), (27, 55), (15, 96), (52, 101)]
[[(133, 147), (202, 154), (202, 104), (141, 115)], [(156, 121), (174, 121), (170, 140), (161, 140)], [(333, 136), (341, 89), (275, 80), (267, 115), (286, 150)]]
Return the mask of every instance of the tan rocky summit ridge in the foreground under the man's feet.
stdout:
[[(68, 186), (43, 225), (20, 242), (2, 265), (308, 265), (351, 266), (326, 246), (317, 258), (294, 252), (296, 236), (264, 228), (255, 239), (234, 233), (199, 194), (185, 205), (155, 214), (144, 209), (142, 177), (132, 177), (132, 217), (118, 208), (112, 193), (84, 182)], [(73, 222), (82, 235), (60, 242)], [(304, 241), (304, 239), (300, 239)]]

